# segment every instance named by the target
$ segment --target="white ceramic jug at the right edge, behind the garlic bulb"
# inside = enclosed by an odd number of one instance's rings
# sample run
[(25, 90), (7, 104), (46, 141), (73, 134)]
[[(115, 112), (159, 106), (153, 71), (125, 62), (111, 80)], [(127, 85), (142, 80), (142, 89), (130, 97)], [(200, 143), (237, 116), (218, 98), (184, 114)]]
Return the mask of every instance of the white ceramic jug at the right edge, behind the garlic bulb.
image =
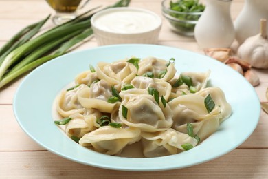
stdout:
[[(242, 11), (234, 21), (238, 43), (260, 33), (260, 19), (268, 21), (268, 0), (245, 0)], [(268, 34), (268, 23), (266, 29)]]

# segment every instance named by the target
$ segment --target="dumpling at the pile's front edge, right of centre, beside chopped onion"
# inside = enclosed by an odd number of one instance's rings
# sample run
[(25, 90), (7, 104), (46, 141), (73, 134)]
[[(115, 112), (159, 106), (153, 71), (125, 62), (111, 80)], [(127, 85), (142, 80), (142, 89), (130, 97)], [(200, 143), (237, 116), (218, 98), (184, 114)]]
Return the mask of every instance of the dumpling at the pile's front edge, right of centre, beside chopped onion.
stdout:
[(144, 156), (159, 157), (177, 154), (184, 151), (183, 144), (197, 145), (197, 140), (188, 134), (181, 133), (174, 129), (157, 131), (155, 133), (142, 133), (142, 143), (144, 146)]

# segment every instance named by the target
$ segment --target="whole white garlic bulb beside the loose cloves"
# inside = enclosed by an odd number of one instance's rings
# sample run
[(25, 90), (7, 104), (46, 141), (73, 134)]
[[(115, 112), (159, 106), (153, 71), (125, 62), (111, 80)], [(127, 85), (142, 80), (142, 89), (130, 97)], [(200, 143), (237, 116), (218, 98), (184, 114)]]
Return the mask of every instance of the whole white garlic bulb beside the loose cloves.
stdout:
[(237, 54), (252, 67), (268, 69), (268, 39), (261, 34), (249, 37), (238, 48)]

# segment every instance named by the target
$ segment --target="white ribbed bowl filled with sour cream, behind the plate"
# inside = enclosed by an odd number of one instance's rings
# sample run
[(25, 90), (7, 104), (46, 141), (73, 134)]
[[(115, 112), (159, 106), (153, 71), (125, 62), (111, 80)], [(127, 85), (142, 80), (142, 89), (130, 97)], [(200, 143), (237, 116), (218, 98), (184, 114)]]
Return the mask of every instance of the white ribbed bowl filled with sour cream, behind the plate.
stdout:
[(98, 45), (157, 43), (161, 18), (141, 8), (111, 8), (93, 15), (91, 25)]

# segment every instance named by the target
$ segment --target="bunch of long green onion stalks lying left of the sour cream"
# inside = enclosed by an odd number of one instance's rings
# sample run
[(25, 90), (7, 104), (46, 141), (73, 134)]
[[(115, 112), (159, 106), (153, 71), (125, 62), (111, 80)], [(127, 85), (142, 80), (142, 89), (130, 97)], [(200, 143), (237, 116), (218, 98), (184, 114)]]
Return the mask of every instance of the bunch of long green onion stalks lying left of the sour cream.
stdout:
[[(120, 0), (107, 8), (129, 6), (130, 1)], [(0, 88), (25, 72), (67, 53), (74, 45), (81, 44), (83, 40), (92, 36), (90, 20), (94, 14), (93, 10), (96, 8), (34, 38), (50, 16), (28, 25), (15, 34), (0, 48)]]

